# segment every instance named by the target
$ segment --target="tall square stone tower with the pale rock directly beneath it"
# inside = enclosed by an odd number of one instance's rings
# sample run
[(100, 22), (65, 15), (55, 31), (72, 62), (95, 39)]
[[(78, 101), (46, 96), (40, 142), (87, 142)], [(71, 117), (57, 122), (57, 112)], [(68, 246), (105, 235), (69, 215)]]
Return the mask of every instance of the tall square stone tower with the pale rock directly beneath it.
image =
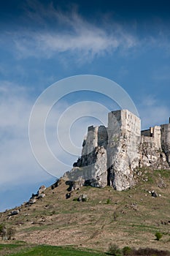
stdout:
[(108, 183), (117, 190), (134, 184), (134, 168), (139, 165), (140, 119), (128, 110), (117, 110), (108, 117)]

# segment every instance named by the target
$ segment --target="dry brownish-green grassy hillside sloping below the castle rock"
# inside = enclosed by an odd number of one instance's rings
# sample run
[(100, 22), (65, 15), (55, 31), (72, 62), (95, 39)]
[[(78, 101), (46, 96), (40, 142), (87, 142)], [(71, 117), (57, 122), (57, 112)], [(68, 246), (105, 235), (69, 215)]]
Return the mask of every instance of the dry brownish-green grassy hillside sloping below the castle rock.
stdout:
[[(74, 245), (107, 252), (109, 244), (120, 248), (150, 247), (170, 251), (170, 171), (142, 169), (136, 172), (138, 184), (117, 192), (82, 187), (66, 199), (65, 181), (32, 206), (20, 206), (20, 213), (0, 214), (0, 223), (16, 230), (15, 239), (31, 244)], [(158, 197), (152, 197), (155, 190)], [(88, 195), (87, 202), (77, 198)], [(163, 233), (160, 241), (156, 232)]]

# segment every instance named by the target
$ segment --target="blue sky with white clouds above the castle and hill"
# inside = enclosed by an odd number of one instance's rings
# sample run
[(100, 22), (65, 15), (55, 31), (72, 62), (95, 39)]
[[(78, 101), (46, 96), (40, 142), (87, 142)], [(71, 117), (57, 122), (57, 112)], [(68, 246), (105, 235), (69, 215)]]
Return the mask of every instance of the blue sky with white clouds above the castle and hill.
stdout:
[[(0, 1), (0, 211), (19, 206), (64, 172), (56, 166), (54, 176), (43, 169), (28, 135), (36, 99), (59, 80), (77, 75), (113, 80), (133, 100), (142, 129), (168, 123), (169, 13), (168, 0)], [(50, 149), (70, 169), (87, 127), (107, 125), (107, 110), (117, 108), (112, 99), (92, 91), (61, 97), (47, 117)], [(61, 146), (67, 125), (77, 154)]]

